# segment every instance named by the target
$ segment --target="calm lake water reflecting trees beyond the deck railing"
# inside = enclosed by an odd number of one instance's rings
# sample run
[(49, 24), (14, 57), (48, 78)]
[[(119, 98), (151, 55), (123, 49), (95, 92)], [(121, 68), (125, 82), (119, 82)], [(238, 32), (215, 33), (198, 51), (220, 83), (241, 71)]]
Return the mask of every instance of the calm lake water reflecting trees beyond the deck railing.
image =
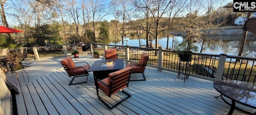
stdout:
[[(140, 41), (142, 45), (146, 45), (146, 35), (140, 34)], [(114, 38), (114, 36), (110, 36), (110, 38)], [(178, 42), (182, 42), (184, 38), (182, 36), (174, 36), (169, 38), (169, 44), (168, 47), (172, 48), (172, 39), (174, 38), (174, 46), (178, 44)], [(242, 36), (210, 36), (206, 42), (204, 43), (204, 47), (202, 50), (202, 53), (206, 54), (227, 54), (227, 55), (238, 55), (238, 50), (240, 47), (240, 40), (242, 39)], [(122, 40), (120, 36), (118, 36), (118, 40), (116, 45), (122, 45), (122, 42), (119, 42), (119, 40)], [(139, 41), (136, 34), (126, 34), (124, 37), (124, 45), (128, 44), (129, 46), (136, 46), (139, 47)], [(111, 39), (110, 44), (115, 44), (115, 40)], [(244, 47), (244, 52), (242, 56), (246, 57), (255, 57), (256, 56), (256, 42), (250, 42), (247, 40), (247, 44)], [(155, 40), (153, 40), (153, 44), (155, 44)], [(162, 48), (166, 48), (167, 44), (167, 35), (160, 35), (158, 44), (162, 46)], [(201, 50), (202, 46), (202, 39), (198, 39), (197, 42), (194, 43), (196, 46), (199, 47), (198, 52)], [(175, 47), (174, 47), (175, 49)]]

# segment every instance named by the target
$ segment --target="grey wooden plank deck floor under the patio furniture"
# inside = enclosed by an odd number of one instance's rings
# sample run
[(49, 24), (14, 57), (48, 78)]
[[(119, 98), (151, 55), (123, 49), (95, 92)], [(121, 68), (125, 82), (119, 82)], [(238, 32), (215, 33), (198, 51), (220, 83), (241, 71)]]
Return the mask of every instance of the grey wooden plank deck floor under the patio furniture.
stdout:
[[(17, 86), (20, 94), (16, 95), (19, 115), (226, 115), (230, 109), (220, 97), (214, 98), (220, 93), (214, 89), (212, 81), (190, 77), (183, 82), (183, 79), (177, 79), (176, 73), (146, 67), (147, 81), (130, 81), (129, 87), (124, 90), (132, 97), (108, 110), (96, 95), (93, 73), (88, 76), (87, 83), (68, 85), (71, 78), (60, 64), (62, 59), (24, 61), (32, 64), (25, 69), (29, 83), (27, 77), (24, 81), (19, 73), (22, 83), (22, 87)], [(95, 60), (90, 56), (74, 59), (86, 61), (90, 65)], [(6, 75), (12, 81), (11, 73)], [(142, 77), (142, 74), (131, 75), (136, 76)], [(85, 79), (75, 80), (79, 82)], [(100, 95), (104, 96), (103, 93)], [(104, 99), (116, 103), (123, 96), (122, 93), (116, 93), (111, 96), (112, 99), (107, 96)], [(256, 111), (245, 108), (251, 112)], [(245, 114), (235, 110), (234, 115)]]

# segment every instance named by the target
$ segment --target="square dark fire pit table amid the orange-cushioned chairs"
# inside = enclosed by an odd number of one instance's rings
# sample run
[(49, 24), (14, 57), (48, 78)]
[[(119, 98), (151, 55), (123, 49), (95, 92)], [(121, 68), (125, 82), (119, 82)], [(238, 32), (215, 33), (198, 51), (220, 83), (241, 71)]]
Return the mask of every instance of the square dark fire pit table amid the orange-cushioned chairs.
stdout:
[[(113, 65), (106, 65), (106, 62), (112, 62)], [(107, 59), (95, 61), (88, 71), (93, 71), (94, 83), (96, 84), (97, 79), (104, 79), (108, 77), (109, 73), (124, 69), (123, 59)]]

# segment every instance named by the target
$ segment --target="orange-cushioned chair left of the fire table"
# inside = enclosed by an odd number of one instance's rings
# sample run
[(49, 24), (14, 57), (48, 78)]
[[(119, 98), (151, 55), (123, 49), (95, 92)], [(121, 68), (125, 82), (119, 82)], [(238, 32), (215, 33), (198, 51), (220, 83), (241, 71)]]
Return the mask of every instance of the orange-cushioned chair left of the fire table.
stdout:
[(86, 81), (79, 83), (86, 83), (88, 80), (89, 72), (87, 71), (90, 68), (90, 65), (87, 62), (77, 62), (77, 63), (85, 63), (87, 65), (76, 66), (74, 61), (70, 56), (66, 57), (62, 61), (60, 61), (64, 69), (67, 71), (69, 77), (73, 77), (68, 85), (73, 85), (77, 83), (72, 83), (75, 77), (80, 77), (86, 75)]

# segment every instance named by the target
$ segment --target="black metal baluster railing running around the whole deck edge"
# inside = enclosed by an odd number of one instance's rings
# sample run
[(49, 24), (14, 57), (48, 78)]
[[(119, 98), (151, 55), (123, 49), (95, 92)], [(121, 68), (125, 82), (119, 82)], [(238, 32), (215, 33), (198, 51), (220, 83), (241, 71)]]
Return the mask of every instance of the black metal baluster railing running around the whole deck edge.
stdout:
[[(86, 51), (83, 51), (82, 44), (68, 44), (66, 50), (68, 55), (71, 55), (73, 50), (78, 50), (80, 55), (88, 54), (90, 48)], [(74, 47), (75, 46), (75, 47)], [(162, 69), (167, 71), (178, 72), (179, 67), (179, 57), (178, 52), (171, 50), (160, 50), (154, 48), (140, 48), (132, 46), (118, 46), (118, 45), (109, 45), (109, 44), (98, 44), (92, 43), (92, 51), (98, 51), (101, 56), (104, 56), (105, 49), (117, 48), (118, 58), (126, 59), (126, 47), (129, 48), (129, 59), (139, 59), (142, 52), (146, 52), (149, 56), (148, 65), (156, 68), (159, 65), (162, 65)], [(36, 47), (38, 50), (38, 55), (42, 57), (56, 57), (64, 56), (63, 48), (61, 46), (44, 46)], [(11, 49), (19, 50), (19, 49)], [(162, 52), (161, 52), (162, 51)], [(162, 53), (162, 54), (159, 54)], [(34, 52), (32, 48), (27, 48), (27, 59), (35, 59)], [(162, 56), (162, 61), (159, 60), (159, 55)], [(220, 59), (221, 58), (221, 59)], [(220, 60), (224, 60), (220, 62)], [(238, 63), (238, 61), (240, 63)], [(241, 81), (246, 81), (250, 83), (255, 83), (256, 79), (256, 58), (251, 57), (242, 57), (242, 56), (226, 56), (220, 57), (220, 55), (213, 54), (202, 54), (202, 53), (193, 53), (193, 58), (190, 66), (190, 75), (200, 78), (210, 78), (215, 79), (216, 72), (218, 69), (219, 63), (225, 63), (223, 69), (222, 79), (237, 79)], [(161, 64), (159, 64), (161, 63)]]

